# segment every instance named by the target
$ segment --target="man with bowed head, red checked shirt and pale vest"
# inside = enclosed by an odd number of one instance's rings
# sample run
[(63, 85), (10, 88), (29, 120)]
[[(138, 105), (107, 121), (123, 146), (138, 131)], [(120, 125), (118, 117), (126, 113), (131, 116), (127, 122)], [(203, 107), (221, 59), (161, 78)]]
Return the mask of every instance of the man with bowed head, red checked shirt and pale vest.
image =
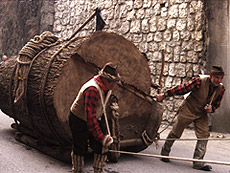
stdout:
[(113, 138), (102, 116), (105, 114), (106, 103), (120, 80), (117, 67), (107, 63), (99, 74), (86, 82), (80, 89), (69, 113), (69, 125), (73, 138), (72, 172), (82, 172), (84, 156), (88, 150), (88, 141), (94, 151), (94, 173), (102, 173), (106, 165), (106, 151)]

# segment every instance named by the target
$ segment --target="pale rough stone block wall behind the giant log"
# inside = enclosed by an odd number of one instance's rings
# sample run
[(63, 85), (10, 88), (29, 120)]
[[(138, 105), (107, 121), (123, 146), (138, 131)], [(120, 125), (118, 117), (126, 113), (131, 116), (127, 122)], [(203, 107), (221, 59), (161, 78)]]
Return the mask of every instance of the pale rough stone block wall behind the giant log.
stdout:
[[(160, 51), (165, 50), (165, 90), (206, 72), (204, 4), (204, 0), (59, 0), (55, 3), (54, 32), (64, 38), (71, 36), (99, 7), (107, 24), (104, 30), (123, 35), (146, 53), (155, 82), (161, 70)], [(94, 31), (95, 20), (79, 35)], [(151, 94), (155, 93), (152, 90)], [(174, 116), (181, 100), (166, 101), (165, 120)]]

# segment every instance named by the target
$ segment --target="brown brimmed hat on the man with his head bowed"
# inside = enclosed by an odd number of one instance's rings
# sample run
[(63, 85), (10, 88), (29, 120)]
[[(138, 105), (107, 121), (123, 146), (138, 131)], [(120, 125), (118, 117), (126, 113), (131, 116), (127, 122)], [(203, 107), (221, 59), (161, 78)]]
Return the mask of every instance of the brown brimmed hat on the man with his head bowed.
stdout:
[(109, 81), (117, 82), (121, 79), (120, 75), (117, 72), (117, 66), (112, 62), (108, 62), (104, 67), (99, 71), (99, 75), (104, 77)]

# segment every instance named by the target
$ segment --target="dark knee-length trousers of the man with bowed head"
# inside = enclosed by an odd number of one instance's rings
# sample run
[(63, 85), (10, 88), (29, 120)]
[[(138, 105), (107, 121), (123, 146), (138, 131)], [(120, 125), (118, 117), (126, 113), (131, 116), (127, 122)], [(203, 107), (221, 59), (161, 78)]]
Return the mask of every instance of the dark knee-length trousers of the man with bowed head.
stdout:
[[(102, 126), (104, 121), (98, 121), (102, 132), (105, 132), (105, 126)], [(69, 113), (69, 126), (72, 133), (73, 152), (76, 155), (85, 156), (88, 151), (88, 144), (90, 148), (96, 153), (102, 153), (102, 143), (95, 140), (95, 138), (89, 133), (86, 121), (76, 117), (71, 111)]]

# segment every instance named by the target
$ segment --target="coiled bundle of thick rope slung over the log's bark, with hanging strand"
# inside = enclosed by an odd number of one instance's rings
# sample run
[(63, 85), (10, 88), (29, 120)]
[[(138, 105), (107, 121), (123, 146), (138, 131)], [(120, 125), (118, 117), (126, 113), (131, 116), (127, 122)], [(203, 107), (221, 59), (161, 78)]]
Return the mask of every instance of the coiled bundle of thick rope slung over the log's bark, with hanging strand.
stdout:
[[(35, 36), (31, 39), (19, 52), (17, 57), (17, 64), (15, 65), (14, 74), (14, 89), (13, 92), (10, 93), (11, 97), (14, 98), (14, 102), (11, 103), (12, 112), (14, 112), (14, 104), (17, 103), (23, 96), (26, 97), (27, 92), (27, 80), (28, 75), (32, 66), (33, 61), (47, 48), (57, 45), (58, 37), (53, 35), (51, 32), (43, 32), (40, 36)], [(13, 74), (11, 80), (13, 81)], [(10, 87), (10, 88), (11, 88)], [(11, 91), (12, 89), (10, 89)], [(23, 109), (26, 114), (29, 115), (29, 110), (26, 102), (23, 102)], [(33, 125), (32, 118), (28, 116), (30, 119), (31, 125), (33, 127), (33, 132), (40, 137), (42, 140), (42, 135)]]

